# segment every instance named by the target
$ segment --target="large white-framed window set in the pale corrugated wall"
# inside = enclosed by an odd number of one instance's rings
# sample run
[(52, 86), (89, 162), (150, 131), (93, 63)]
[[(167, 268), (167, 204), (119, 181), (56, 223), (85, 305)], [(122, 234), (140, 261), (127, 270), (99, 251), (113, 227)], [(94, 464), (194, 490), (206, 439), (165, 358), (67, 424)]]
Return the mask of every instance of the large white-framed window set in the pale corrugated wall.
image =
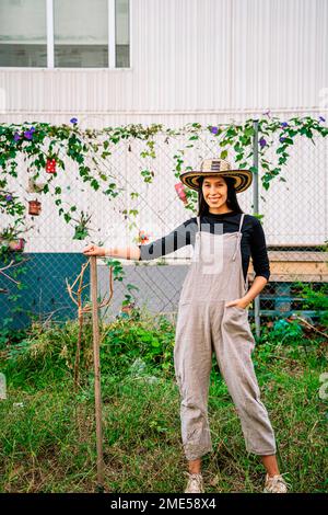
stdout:
[(0, 66), (130, 67), (129, 0), (0, 0)]

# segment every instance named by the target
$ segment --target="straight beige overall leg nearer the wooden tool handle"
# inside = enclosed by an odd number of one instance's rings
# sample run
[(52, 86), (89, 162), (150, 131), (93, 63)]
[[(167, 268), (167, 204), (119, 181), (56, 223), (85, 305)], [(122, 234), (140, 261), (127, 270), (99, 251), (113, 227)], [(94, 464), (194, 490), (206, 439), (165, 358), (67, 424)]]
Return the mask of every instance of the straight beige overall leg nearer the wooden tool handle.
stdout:
[(187, 460), (213, 450), (208, 421), (212, 346), (207, 308), (185, 304), (178, 309), (174, 366), (180, 392), (181, 440)]

